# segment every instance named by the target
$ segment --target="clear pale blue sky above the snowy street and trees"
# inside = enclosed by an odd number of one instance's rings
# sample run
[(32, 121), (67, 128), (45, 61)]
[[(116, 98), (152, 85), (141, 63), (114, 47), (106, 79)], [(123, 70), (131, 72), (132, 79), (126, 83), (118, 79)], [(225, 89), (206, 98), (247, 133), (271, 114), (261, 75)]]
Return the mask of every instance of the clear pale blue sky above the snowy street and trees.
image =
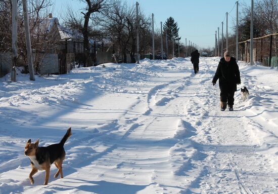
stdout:
[[(160, 29), (160, 22), (173, 17), (179, 27), (181, 42), (191, 41), (201, 48), (214, 47), (215, 31), (219, 27), (221, 39), (221, 22), (223, 21), (223, 34), (226, 34), (225, 13), (228, 12), (228, 32), (236, 24), (236, 0), (126, 0), (129, 5), (138, 2), (140, 10), (146, 16), (154, 14), (155, 28)], [(78, 11), (83, 5), (79, 0), (56, 0), (54, 13), (65, 13), (67, 6)], [(239, 0), (239, 12), (243, 5), (250, 5), (251, 0)], [(78, 11), (79, 12), (79, 11)], [(61, 17), (54, 15), (54, 17)], [(218, 37), (218, 31), (217, 31)]]

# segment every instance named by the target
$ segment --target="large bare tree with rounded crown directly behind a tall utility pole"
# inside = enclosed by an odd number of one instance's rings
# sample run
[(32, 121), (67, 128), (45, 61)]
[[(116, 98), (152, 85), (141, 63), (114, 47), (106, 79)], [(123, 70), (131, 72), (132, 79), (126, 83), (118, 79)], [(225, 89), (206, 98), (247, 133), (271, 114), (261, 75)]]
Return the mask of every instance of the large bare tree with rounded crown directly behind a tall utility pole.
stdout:
[[(123, 62), (127, 62), (126, 53), (129, 53), (131, 62), (135, 62), (136, 47), (136, 13), (135, 6), (128, 6), (126, 2), (119, 0), (112, 1), (109, 10), (99, 17), (98, 21), (103, 27), (105, 34), (115, 44), (116, 53)], [(140, 36), (140, 48), (142, 52), (146, 51), (146, 46), (150, 47), (150, 18), (146, 19), (142, 12), (138, 13)]]

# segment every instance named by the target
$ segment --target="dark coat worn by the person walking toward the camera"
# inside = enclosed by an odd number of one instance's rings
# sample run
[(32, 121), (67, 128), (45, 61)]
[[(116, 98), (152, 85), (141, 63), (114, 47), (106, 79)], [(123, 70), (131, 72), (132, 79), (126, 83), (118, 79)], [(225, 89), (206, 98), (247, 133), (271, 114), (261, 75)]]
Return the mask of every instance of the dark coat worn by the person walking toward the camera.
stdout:
[(231, 57), (229, 62), (224, 58), (220, 59), (212, 83), (215, 84), (218, 79), (221, 92), (237, 91), (237, 84), (241, 83), (241, 78), (236, 58)]

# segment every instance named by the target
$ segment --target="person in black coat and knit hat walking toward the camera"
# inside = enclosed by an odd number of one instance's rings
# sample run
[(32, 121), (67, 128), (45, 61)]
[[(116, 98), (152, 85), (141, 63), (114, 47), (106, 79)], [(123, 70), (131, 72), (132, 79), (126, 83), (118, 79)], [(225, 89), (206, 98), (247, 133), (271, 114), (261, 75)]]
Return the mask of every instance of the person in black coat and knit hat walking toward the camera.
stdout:
[(234, 95), (237, 91), (237, 84), (241, 84), (239, 66), (236, 58), (231, 57), (229, 51), (224, 53), (224, 57), (220, 59), (217, 70), (212, 80), (213, 86), (219, 79), (220, 87), (220, 106), (224, 111), (227, 107), (234, 110)]

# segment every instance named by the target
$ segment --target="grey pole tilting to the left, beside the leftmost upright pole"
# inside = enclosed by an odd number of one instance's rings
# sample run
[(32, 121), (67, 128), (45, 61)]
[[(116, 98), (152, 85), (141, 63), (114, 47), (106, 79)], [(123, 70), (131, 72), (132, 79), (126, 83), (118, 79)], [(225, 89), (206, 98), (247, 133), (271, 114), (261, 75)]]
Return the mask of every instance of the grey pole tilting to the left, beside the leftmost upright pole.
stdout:
[(35, 81), (33, 56), (32, 56), (32, 49), (31, 49), (31, 39), (30, 39), (30, 31), (29, 31), (28, 12), (27, 12), (28, 9), (27, 9), (26, 0), (22, 0), (22, 7), (23, 7), (23, 15), (24, 15), (24, 28), (25, 28), (25, 36), (26, 36), (26, 47), (27, 47), (27, 57), (28, 57), (30, 80)]

